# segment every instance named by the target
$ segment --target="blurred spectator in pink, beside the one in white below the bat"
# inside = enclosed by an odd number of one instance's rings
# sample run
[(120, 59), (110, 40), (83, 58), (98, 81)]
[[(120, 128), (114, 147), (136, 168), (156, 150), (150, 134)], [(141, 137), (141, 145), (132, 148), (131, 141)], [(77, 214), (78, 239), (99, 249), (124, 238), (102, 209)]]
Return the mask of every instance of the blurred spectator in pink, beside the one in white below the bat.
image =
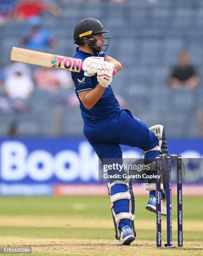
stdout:
[(60, 79), (55, 69), (42, 67), (35, 71), (34, 81), (37, 87), (49, 92), (56, 92), (60, 87)]

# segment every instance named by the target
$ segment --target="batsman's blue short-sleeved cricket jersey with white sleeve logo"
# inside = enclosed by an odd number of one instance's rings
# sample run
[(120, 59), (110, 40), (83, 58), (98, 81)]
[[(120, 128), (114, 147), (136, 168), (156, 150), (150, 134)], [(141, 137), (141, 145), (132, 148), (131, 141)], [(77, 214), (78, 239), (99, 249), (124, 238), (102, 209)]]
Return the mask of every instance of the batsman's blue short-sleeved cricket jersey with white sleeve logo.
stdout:
[[(74, 58), (82, 59), (82, 61), (84, 61), (86, 58), (91, 56), (93, 55), (84, 51), (80, 51), (78, 47), (76, 49), (76, 54)], [(94, 54), (94, 56), (105, 57), (107, 55), (104, 53), (100, 53)], [(80, 110), (83, 120), (107, 118), (108, 116), (120, 110), (120, 105), (110, 85), (105, 89), (102, 97), (93, 106), (93, 108), (91, 108), (90, 110), (85, 108), (80, 100), (78, 92), (92, 90), (93, 88), (95, 88), (95, 86), (98, 84), (97, 74), (92, 77), (85, 77), (84, 71), (81, 70), (80, 73), (71, 72), (71, 76), (75, 84), (75, 93), (78, 97), (78, 100), (80, 101)]]

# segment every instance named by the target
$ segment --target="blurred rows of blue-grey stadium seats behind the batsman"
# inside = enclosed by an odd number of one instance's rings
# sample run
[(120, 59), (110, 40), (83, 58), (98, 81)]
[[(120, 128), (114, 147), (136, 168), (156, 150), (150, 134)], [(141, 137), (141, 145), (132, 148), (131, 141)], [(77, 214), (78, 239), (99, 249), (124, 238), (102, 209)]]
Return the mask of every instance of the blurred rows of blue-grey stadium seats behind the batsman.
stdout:
[[(130, 105), (133, 115), (149, 126), (163, 123), (168, 137), (198, 136), (196, 112), (203, 100), (203, 1), (201, 0), (130, 0), (125, 3), (58, 1), (63, 17), (45, 13), (44, 26), (58, 38), (58, 45), (45, 49), (73, 56), (73, 29), (82, 18), (102, 21), (112, 36), (108, 54), (123, 64), (123, 70), (113, 79), (113, 90)], [(1, 29), (1, 56), (9, 64), (11, 46), (22, 46), (18, 34), (26, 23), (9, 21)], [(191, 62), (197, 67), (200, 84), (197, 90), (170, 90), (168, 79), (177, 61), (177, 52), (186, 47)], [(35, 69), (35, 67), (32, 67)], [(127, 81), (127, 82), (126, 82)], [(19, 118), (22, 136), (55, 136), (55, 102), (46, 92), (36, 90), (30, 100), (28, 116)], [(60, 111), (60, 135), (83, 134), (80, 110), (57, 105)], [(39, 113), (39, 114), (38, 114)], [(13, 114), (0, 115), (0, 135), (5, 135)], [(57, 120), (58, 120), (57, 119)]]

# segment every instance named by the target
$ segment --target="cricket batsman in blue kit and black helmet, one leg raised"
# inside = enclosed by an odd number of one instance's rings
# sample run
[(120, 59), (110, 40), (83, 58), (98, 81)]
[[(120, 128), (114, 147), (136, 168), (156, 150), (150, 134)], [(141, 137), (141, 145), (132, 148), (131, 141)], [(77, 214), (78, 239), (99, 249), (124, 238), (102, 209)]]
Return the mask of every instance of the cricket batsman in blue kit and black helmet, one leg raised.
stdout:
[[(79, 47), (74, 58), (83, 60), (83, 70), (80, 73), (71, 72), (71, 75), (84, 120), (84, 135), (102, 162), (117, 159), (122, 163), (120, 144), (142, 149), (141, 154), (145, 154), (146, 161), (151, 159), (150, 172), (153, 174), (155, 156), (168, 154), (164, 127), (154, 125), (148, 128), (129, 110), (120, 109), (111, 83), (113, 69), (119, 72), (122, 65), (105, 53), (110, 37), (103, 35), (108, 32), (94, 18), (81, 20), (75, 26), (74, 44)], [(126, 90), (127, 83), (123, 84)], [(155, 212), (155, 180), (150, 179), (148, 183), (146, 189), (150, 192), (150, 199), (146, 209)], [(132, 184), (128, 179), (108, 179), (108, 189), (117, 244), (130, 245), (136, 236)], [(166, 215), (163, 202), (161, 213)]]

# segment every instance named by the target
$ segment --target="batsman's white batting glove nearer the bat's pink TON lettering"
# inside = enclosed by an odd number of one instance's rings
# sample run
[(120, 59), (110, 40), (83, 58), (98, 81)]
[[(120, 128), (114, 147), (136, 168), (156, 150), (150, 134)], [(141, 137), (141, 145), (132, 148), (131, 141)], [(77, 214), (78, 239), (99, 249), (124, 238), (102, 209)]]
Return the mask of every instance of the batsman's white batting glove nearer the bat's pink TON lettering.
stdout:
[(86, 77), (92, 77), (97, 73), (100, 63), (104, 62), (103, 57), (88, 57), (83, 62), (84, 75)]

